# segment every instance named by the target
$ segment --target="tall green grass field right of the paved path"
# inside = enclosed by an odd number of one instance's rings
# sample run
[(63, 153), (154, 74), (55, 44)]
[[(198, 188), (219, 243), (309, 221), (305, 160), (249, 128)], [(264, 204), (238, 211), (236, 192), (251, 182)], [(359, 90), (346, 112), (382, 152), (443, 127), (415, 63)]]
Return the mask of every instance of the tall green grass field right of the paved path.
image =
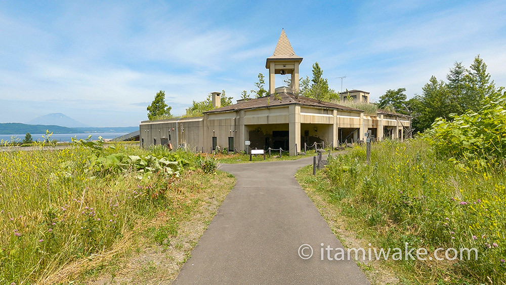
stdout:
[(501, 168), (462, 169), (423, 140), (373, 145), (330, 160), (306, 189), (338, 207), (357, 236), (375, 248), (476, 248), (478, 260), (402, 260), (388, 264), (405, 284), (504, 284), (506, 175)]

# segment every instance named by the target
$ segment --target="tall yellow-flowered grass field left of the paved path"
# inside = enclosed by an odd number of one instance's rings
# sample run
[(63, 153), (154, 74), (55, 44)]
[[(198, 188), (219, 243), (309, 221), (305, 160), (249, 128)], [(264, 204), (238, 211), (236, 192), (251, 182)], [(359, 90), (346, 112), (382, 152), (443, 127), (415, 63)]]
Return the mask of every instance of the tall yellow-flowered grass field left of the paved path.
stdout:
[[(167, 245), (217, 195), (213, 185), (233, 185), (192, 153), (89, 146), (0, 153), (1, 284), (72, 280), (140, 236)], [(166, 223), (150, 226), (160, 213)]]

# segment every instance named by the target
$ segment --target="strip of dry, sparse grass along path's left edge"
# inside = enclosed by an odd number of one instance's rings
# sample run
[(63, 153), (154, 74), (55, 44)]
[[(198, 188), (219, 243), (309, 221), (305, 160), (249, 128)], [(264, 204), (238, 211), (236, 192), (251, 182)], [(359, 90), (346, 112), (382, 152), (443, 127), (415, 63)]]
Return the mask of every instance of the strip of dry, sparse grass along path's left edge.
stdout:
[[(174, 187), (179, 189), (179, 195), (174, 198), (179, 200), (176, 203), (184, 204), (192, 199), (197, 202), (191, 212), (180, 221), (176, 236), (167, 239), (163, 245), (153, 240), (150, 229), (163, 227), (172, 219), (167, 211), (160, 211), (155, 218), (143, 223), (142, 230), (136, 232), (136, 238), (130, 239), (128, 248), (136, 249), (136, 253), (128, 254), (123, 251), (118, 254), (119, 258), (116, 258), (112, 266), (103, 266), (98, 275), (81, 276), (79, 280), (94, 285), (172, 282), (191, 256), (191, 251), (234, 183), (235, 179), (223, 172), (215, 176), (202, 171), (187, 174), (174, 184)], [(184, 212), (185, 207), (180, 210)], [(111, 259), (103, 261), (109, 260)], [(103, 262), (97, 261), (94, 265), (102, 264)]]

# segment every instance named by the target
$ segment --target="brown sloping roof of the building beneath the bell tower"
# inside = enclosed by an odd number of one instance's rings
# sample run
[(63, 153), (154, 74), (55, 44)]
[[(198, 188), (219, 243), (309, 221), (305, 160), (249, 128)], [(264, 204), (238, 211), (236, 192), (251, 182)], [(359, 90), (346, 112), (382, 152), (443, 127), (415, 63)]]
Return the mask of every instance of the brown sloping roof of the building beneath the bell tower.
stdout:
[(362, 110), (346, 107), (334, 103), (329, 102), (318, 102), (318, 100), (308, 97), (299, 96), (296, 98), (293, 94), (290, 93), (280, 93), (278, 94), (278, 98), (274, 96), (266, 96), (258, 99), (251, 99), (248, 101), (244, 101), (243, 103), (237, 103), (221, 108), (217, 108), (214, 110), (206, 111), (204, 113), (217, 113), (217, 112), (230, 112), (237, 110), (245, 110), (245, 109), (256, 109), (256, 108), (269, 108), (276, 106), (285, 106), (285, 105), (304, 105), (304, 106), (312, 106), (312, 107), (320, 107), (320, 108), (329, 108), (329, 109), (337, 109), (337, 110), (346, 110), (351, 112), (363, 112)]

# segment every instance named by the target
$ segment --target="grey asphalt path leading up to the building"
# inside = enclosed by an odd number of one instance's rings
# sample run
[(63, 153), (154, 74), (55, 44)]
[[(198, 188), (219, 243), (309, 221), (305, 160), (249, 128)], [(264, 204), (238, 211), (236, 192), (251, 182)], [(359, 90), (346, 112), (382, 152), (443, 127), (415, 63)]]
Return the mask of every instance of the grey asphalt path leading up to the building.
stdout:
[[(353, 260), (320, 260), (322, 248), (342, 245), (293, 177), (311, 163), (222, 165), (237, 183), (174, 283), (370, 284)], [(298, 254), (305, 243), (308, 260)]]

